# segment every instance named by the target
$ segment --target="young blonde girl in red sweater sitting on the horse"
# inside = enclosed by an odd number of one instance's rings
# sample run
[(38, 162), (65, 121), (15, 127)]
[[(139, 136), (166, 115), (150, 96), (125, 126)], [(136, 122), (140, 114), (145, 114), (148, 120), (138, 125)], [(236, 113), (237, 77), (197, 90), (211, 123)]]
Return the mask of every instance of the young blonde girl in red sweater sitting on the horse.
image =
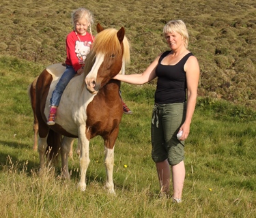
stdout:
[[(91, 25), (94, 23), (93, 16), (89, 10), (79, 8), (72, 13), (72, 24), (74, 31), (66, 37), (66, 70), (57, 83), (51, 97), (51, 108), (48, 114), (48, 125), (55, 125), (57, 107), (61, 95), (68, 85), (68, 82), (76, 75), (83, 73), (83, 65), (90, 52), (94, 36), (91, 34)], [(89, 27), (90, 33), (87, 32)], [(123, 110), (126, 114), (131, 114), (131, 110), (123, 102)]]

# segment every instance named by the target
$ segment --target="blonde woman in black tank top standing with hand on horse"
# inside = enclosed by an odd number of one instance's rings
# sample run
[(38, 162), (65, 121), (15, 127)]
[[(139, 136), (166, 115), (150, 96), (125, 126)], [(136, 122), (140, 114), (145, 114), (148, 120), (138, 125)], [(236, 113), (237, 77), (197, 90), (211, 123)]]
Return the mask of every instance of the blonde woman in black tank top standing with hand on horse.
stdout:
[(161, 193), (169, 194), (172, 172), (173, 202), (180, 203), (185, 178), (184, 140), (188, 138), (195, 110), (200, 70), (197, 58), (187, 49), (188, 31), (184, 22), (169, 21), (163, 33), (171, 50), (158, 55), (142, 74), (117, 74), (114, 78), (144, 84), (158, 77), (152, 115), (152, 159)]

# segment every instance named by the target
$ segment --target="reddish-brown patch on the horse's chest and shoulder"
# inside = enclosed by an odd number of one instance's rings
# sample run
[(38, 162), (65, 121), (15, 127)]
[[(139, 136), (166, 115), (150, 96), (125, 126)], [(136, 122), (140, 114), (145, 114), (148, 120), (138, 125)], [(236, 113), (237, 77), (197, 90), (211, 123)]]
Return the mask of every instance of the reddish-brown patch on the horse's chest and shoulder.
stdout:
[(95, 136), (102, 136), (108, 149), (113, 149), (115, 145), (123, 115), (119, 92), (113, 91), (119, 90), (119, 87), (119, 80), (110, 80), (87, 106), (86, 137), (90, 140)]

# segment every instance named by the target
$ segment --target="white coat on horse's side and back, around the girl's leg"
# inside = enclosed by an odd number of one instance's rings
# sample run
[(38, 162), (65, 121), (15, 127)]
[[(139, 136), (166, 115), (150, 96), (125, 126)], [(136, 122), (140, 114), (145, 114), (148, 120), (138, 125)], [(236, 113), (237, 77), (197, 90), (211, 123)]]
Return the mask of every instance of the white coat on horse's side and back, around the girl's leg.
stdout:
[[(46, 68), (47, 72), (53, 76), (53, 81), (46, 99), (46, 106), (44, 108), (46, 117), (50, 110), (49, 106), (52, 93), (65, 69), (66, 67), (61, 63)], [(74, 76), (74, 78), (68, 82), (61, 96), (59, 107), (57, 108), (56, 123), (61, 126), (66, 126), (66, 131), (70, 134), (74, 134), (74, 136), (78, 136), (77, 124), (85, 123), (87, 119), (86, 108), (95, 97), (95, 95), (89, 93), (83, 86), (84, 80), (82, 75)], [(85, 101), (85, 99), (87, 100)], [(66, 119), (64, 121), (63, 119), (58, 119), (58, 117), (66, 117)]]

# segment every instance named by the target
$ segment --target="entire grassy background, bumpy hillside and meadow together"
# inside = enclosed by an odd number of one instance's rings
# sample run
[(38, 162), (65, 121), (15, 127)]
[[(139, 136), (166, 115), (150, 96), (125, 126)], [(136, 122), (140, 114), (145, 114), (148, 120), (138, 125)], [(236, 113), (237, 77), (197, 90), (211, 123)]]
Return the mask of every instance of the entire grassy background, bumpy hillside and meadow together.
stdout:
[[(122, 84), (134, 114), (123, 116), (115, 147), (117, 196), (103, 189), (100, 138), (91, 141), (85, 192), (76, 189), (76, 155), (70, 182), (59, 179), (59, 168), (38, 176), (27, 87), (46, 65), (65, 60), (70, 13), (81, 6), (104, 27), (125, 27), (132, 47), (126, 74), (143, 72), (168, 49), (161, 35), (165, 22), (186, 22), (201, 82), (186, 142), (182, 204), (158, 198), (150, 157), (155, 81)], [(0, 217), (255, 217), (255, 7), (253, 0), (1, 1)]]

